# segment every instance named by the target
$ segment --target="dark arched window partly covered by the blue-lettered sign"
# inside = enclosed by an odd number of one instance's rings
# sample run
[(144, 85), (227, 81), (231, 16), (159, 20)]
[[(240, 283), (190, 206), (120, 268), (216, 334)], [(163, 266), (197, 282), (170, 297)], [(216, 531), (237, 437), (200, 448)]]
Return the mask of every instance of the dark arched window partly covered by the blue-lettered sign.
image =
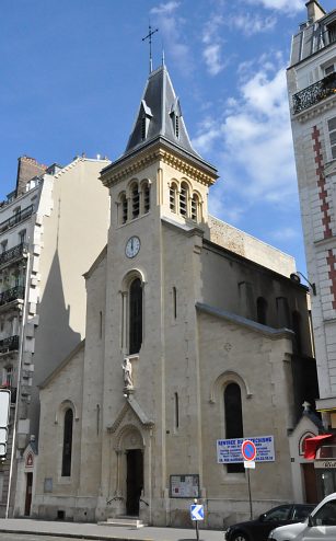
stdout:
[[(229, 383), (224, 390), (225, 438), (243, 438), (243, 413), (241, 388), (237, 383)], [(227, 464), (228, 473), (244, 472), (243, 462)]]

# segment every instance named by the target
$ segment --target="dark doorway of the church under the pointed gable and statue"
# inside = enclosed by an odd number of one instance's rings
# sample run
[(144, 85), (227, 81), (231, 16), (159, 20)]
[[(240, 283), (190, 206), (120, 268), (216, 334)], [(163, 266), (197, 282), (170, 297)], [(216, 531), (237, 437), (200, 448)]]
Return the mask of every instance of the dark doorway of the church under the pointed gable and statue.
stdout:
[(141, 449), (126, 451), (127, 457), (127, 499), (126, 513), (139, 516), (140, 496), (143, 488), (143, 454)]

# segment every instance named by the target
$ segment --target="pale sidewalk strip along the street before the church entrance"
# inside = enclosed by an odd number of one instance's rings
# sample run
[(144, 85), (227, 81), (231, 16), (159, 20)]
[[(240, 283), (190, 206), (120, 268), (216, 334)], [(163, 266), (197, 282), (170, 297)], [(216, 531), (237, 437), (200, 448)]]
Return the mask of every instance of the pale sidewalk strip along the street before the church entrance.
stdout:
[[(199, 528), (200, 525), (199, 525)], [(121, 526), (97, 526), (94, 523), (32, 520), (25, 518), (0, 518), (0, 532), (35, 533), (36, 536), (63, 536), (95, 541), (194, 541), (195, 529), (158, 528), (147, 526), (138, 530)], [(199, 541), (224, 541), (219, 530), (199, 529)]]

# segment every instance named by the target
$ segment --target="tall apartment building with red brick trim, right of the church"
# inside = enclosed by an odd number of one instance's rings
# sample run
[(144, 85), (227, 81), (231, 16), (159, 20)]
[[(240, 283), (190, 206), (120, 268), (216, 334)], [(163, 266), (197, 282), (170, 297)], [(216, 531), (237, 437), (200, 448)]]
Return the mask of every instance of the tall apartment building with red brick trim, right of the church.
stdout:
[(336, 10), (326, 13), (316, 0), (306, 9), (292, 39), (288, 93), (324, 427), (308, 454), (323, 496), (336, 490)]

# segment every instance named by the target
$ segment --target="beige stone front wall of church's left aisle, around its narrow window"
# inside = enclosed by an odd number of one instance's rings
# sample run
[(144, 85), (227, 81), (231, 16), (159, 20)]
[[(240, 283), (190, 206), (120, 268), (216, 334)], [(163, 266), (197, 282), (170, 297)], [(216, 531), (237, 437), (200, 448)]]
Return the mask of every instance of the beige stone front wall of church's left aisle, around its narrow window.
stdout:
[[(61, 511), (65, 519), (74, 518), (80, 482), (83, 357), (82, 345), (53, 381), (40, 389), (39, 460), (32, 516), (55, 520)], [(63, 421), (68, 408), (73, 412), (71, 474), (62, 476)]]

